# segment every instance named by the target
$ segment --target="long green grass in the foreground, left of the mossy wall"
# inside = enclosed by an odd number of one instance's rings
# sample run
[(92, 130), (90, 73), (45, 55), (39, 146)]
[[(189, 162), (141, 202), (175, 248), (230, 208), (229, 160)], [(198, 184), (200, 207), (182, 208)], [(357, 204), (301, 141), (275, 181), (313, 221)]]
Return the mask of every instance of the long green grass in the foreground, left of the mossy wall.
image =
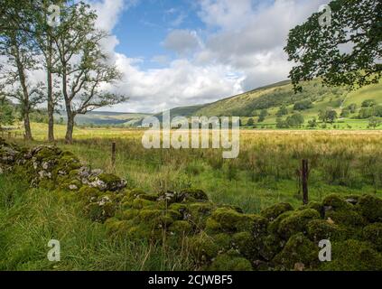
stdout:
[[(191, 270), (187, 254), (126, 238), (81, 215), (82, 204), (58, 191), (28, 189), (0, 175), (0, 270)], [(61, 242), (61, 262), (47, 258)]]

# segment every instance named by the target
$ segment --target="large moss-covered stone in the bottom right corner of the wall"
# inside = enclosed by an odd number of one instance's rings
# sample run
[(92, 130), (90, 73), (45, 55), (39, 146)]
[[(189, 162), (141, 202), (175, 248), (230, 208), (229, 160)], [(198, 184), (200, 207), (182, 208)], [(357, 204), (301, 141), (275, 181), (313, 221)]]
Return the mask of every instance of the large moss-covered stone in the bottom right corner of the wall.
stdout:
[(369, 242), (349, 239), (332, 242), (331, 262), (322, 262), (320, 270), (381, 271), (382, 256)]

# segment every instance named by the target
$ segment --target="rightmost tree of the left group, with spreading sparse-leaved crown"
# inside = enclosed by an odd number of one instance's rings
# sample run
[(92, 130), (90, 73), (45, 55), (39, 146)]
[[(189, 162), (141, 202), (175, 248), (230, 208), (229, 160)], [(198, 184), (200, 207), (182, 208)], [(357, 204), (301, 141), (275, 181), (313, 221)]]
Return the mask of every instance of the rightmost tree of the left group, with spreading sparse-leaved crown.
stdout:
[(67, 113), (65, 141), (73, 140), (75, 117), (98, 107), (115, 105), (125, 97), (103, 87), (121, 78), (114, 65), (108, 63), (100, 42), (107, 33), (95, 28), (97, 14), (89, 5), (78, 3), (61, 10), (61, 24), (53, 37), (59, 53), (58, 73)]

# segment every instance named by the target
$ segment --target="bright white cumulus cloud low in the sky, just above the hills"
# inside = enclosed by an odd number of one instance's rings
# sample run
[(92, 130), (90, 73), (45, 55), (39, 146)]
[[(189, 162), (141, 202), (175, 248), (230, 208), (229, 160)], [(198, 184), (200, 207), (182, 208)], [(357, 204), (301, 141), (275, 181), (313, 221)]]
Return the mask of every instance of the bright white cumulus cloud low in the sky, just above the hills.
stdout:
[(119, 111), (160, 112), (164, 108), (196, 105), (213, 101), (217, 96), (240, 93), (241, 78), (229, 74), (224, 66), (195, 66), (187, 60), (172, 61), (161, 70), (143, 71), (139, 62), (117, 54), (117, 67), (126, 75), (118, 92), (130, 97), (115, 108)]

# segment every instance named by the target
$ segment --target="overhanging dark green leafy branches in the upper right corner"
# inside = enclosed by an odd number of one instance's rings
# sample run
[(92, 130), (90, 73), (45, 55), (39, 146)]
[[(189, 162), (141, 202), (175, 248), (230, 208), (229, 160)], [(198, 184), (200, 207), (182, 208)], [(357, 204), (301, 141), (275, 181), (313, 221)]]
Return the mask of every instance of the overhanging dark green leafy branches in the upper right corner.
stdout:
[(325, 14), (315, 13), (289, 33), (284, 51), (296, 63), (290, 72), (295, 91), (302, 90), (301, 81), (317, 77), (329, 86), (355, 89), (382, 76), (382, 2), (334, 0), (329, 6), (331, 23), (321, 25)]

